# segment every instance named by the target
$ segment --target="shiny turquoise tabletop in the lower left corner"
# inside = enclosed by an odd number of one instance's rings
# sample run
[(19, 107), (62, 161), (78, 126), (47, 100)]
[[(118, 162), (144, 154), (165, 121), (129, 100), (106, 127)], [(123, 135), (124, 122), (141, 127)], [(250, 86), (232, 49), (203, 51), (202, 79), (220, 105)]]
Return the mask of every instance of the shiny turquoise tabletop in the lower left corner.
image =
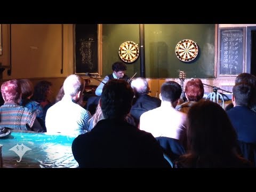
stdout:
[(3, 167), (78, 167), (71, 145), (75, 138), (35, 132), (11, 132), (0, 138)]

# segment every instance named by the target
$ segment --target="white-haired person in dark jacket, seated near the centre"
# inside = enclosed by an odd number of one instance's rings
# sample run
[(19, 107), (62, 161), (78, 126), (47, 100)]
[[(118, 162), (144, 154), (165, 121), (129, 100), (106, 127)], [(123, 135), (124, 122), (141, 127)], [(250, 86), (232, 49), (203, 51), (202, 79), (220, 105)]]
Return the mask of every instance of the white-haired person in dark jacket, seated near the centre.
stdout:
[(137, 77), (132, 80), (131, 87), (135, 93), (135, 98), (133, 100), (130, 114), (134, 118), (135, 124), (138, 127), (140, 123), (140, 116), (148, 110), (160, 107), (161, 100), (148, 95), (150, 89), (146, 78)]

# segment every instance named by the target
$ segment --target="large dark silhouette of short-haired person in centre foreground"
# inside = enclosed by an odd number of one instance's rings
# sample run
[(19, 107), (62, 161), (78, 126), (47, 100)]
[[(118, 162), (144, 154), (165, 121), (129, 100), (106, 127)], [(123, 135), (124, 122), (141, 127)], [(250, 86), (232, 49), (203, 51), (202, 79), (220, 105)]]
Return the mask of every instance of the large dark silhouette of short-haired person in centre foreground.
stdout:
[(153, 135), (125, 121), (133, 96), (123, 79), (106, 83), (99, 102), (105, 119), (72, 144), (79, 167), (170, 167)]

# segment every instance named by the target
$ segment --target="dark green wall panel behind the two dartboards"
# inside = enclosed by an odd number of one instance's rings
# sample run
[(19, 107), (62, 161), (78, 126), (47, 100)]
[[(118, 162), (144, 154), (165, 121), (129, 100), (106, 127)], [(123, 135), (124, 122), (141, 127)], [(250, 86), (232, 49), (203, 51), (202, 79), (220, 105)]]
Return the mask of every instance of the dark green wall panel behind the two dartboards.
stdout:
[[(175, 46), (182, 39), (197, 43), (199, 52), (193, 61), (183, 62), (175, 55)], [(103, 24), (103, 75), (112, 73), (111, 65), (121, 60), (118, 49), (126, 41), (139, 44), (138, 24)], [(145, 24), (146, 77), (178, 78), (178, 70), (183, 70), (187, 78), (215, 78), (214, 49), (214, 24)], [(126, 74), (131, 77), (135, 72), (140, 76), (140, 58), (127, 63)]]

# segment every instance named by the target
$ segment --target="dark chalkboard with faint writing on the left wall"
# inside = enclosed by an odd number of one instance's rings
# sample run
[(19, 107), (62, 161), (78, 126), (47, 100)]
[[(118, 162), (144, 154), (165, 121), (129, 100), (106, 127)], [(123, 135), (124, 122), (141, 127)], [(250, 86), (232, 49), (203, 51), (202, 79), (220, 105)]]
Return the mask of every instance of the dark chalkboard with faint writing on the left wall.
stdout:
[(98, 73), (98, 25), (75, 25), (76, 73)]

